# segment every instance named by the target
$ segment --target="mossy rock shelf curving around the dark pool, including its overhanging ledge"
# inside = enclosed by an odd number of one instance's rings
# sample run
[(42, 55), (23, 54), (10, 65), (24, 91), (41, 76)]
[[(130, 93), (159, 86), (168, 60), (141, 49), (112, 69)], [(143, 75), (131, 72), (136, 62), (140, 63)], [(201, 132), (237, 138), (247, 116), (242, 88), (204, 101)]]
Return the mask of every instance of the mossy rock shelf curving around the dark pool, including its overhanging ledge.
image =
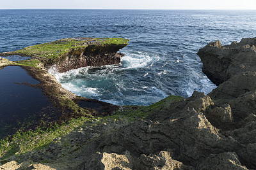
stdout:
[[(119, 107), (113, 104), (86, 99), (64, 89), (54, 76), (47, 73), (47, 69), (54, 66), (57, 71), (64, 72), (85, 66), (118, 64), (123, 54), (117, 52), (124, 48), (128, 41), (129, 39), (123, 38), (66, 38), (50, 43), (28, 46), (15, 52), (0, 53), (0, 56), (3, 56), (3, 58), (0, 57), (0, 69), (4, 66), (21, 66), (26, 69), (40, 83), (31, 85), (23, 82), (22, 84), (42, 89), (44, 95), (49, 97), (52, 103), (51, 106), (54, 107), (50, 109), (50, 106), (45, 106), (45, 108), (51, 111), (40, 112), (42, 117), (41, 115), (40, 117), (36, 116), (34, 111), (34, 115), (31, 115), (31, 117), (36, 117), (42, 124), (31, 120), (29, 117), (26, 123), (22, 124), (24, 127), (22, 129), (27, 131), (31, 127), (35, 129), (35, 127), (42, 125), (61, 124), (71, 118), (109, 115), (113, 110), (118, 109)], [(23, 59), (19, 60), (18, 58)], [(15, 61), (12, 62), (8, 59), (15, 59)], [(4, 107), (8, 110), (10, 106)], [(4, 114), (6, 113), (1, 113), (0, 111), (0, 115)], [(14, 118), (14, 120), (16, 122), (24, 122), (19, 118)], [(12, 121), (12, 125), (10, 125), (10, 127), (13, 127), (13, 132), (17, 132), (19, 128), (15, 121)], [(12, 129), (6, 127), (6, 125), (2, 127)], [(3, 136), (10, 135), (6, 133), (3, 132), (3, 135), (0, 135), (0, 139)]]

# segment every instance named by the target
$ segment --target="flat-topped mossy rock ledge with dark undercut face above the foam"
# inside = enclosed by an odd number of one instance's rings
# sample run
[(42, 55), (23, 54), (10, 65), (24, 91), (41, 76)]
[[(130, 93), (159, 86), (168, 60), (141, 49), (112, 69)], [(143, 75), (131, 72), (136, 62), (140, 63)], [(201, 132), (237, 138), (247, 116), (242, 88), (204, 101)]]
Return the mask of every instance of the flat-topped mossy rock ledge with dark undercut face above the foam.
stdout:
[(128, 45), (128, 41), (124, 38), (65, 38), (0, 53), (0, 56), (31, 57), (30, 61), (40, 63), (45, 69), (54, 66), (62, 73), (79, 67), (119, 64), (124, 55), (117, 52)]

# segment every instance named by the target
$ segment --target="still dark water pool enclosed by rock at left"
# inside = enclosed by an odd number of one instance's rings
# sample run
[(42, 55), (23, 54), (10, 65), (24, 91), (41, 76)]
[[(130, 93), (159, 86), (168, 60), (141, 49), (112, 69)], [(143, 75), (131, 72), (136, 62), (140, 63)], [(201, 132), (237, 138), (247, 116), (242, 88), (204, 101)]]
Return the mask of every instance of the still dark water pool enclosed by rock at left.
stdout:
[(22, 67), (0, 69), (0, 138), (22, 125), (37, 124), (40, 119), (59, 113), (41, 89), (22, 84), (25, 82), (39, 83)]

